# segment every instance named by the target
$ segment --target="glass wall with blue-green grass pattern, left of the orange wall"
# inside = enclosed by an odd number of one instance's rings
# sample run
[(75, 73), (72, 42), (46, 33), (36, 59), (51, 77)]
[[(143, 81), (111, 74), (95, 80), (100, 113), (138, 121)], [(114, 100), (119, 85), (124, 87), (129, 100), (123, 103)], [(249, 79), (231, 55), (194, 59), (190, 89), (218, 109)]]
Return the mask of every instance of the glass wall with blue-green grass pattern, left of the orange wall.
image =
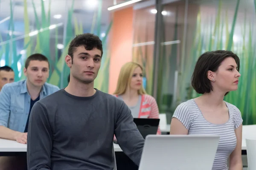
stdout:
[(51, 66), (48, 82), (63, 88), (69, 75), (69, 68), (63, 62), (68, 45), (76, 34), (91, 32), (102, 39), (105, 51), (103, 71), (95, 86), (108, 92), (108, 83), (104, 86), (103, 83), (108, 82), (106, 43), (112, 18), (106, 6), (111, 6), (111, 0), (0, 1), (1, 65), (13, 67), (15, 81), (24, 79), (22, 70), (26, 57), (42, 53)]

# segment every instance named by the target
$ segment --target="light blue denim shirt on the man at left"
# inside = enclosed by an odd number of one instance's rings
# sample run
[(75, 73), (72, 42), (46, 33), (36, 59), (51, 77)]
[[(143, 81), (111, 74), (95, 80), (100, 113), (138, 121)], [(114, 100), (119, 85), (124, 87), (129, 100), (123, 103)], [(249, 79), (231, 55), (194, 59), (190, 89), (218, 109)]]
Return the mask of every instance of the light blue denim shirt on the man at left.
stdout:
[[(40, 99), (58, 91), (55, 85), (44, 83)], [(0, 91), (0, 125), (24, 132), (30, 109), (26, 79), (8, 83)]]

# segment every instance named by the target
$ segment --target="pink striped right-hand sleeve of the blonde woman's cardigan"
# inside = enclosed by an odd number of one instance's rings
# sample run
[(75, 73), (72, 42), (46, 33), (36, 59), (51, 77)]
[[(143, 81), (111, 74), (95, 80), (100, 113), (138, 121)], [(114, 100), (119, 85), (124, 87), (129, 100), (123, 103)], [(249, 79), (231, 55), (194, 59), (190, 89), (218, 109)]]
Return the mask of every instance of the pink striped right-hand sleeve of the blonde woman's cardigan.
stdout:
[[(151, 106), (151, 112), (148, 118), (151, 119), (159, 119), (159, 109), (157, 105), (157, 101), (153, 96), (145, 95), (145, 100), (148, 101), (148, 104)], [(157, 135), (161, 134), (160, 126), (158, 126)]]

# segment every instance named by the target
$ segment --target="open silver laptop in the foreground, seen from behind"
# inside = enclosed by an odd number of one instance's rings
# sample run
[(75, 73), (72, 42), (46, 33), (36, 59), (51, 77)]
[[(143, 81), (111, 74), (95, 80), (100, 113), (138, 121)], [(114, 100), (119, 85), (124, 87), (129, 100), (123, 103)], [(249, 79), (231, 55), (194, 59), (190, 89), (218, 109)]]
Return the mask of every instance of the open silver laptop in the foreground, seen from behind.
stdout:
[(139, 170), (212, 170), (219, 136), (148, 135)]

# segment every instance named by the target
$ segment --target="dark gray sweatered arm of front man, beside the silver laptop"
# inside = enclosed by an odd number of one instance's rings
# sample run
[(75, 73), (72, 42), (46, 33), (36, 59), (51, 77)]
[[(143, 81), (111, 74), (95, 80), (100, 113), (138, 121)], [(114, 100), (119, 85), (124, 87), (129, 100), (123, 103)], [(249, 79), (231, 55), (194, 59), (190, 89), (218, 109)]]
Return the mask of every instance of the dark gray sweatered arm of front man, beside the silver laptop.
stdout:
[(139, 166), (144, 139), (133, 121), (131, 110), (124, 102), (117, 113), (115, 136), (123, 152)]

